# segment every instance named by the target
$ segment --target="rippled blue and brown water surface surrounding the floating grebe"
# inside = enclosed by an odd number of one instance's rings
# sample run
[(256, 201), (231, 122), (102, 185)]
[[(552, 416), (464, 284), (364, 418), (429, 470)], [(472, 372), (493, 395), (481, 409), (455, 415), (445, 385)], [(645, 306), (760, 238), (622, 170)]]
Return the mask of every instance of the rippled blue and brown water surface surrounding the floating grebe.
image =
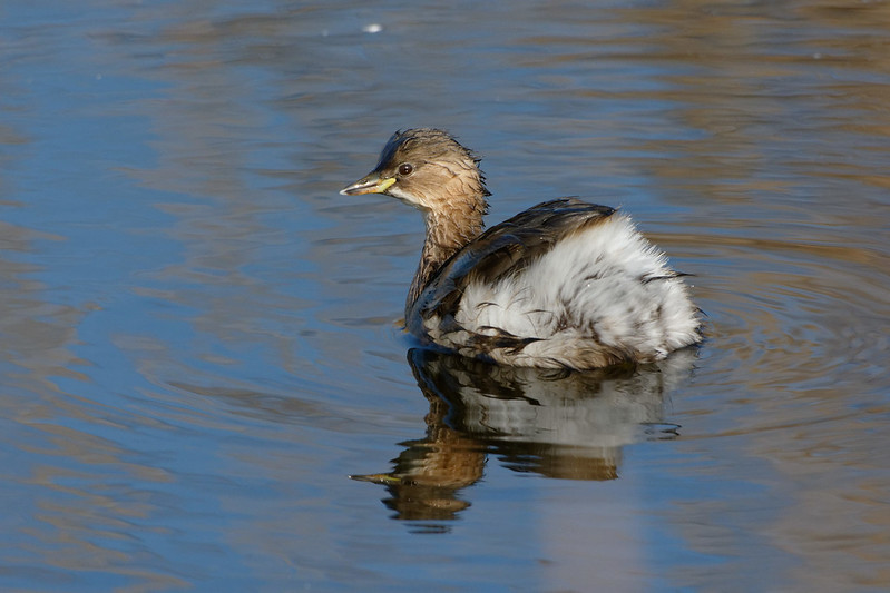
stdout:
[[(0, 8), (0, 589), (890, 587), (890, 4)], [(401, 333), (398, 128), (620, 206), (662, 365)], [(354, 476), (358, 480), (350, 480)]]

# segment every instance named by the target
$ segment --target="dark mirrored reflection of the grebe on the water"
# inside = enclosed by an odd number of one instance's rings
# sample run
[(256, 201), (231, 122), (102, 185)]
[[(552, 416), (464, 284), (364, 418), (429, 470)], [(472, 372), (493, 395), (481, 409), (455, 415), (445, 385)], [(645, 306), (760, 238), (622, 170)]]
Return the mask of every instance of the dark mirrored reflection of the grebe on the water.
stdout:
[(615, 480), (622, 446), (672, 438), (664, 396), (688, 375), (694, 352), (645, 366), (588, 372), (499, 366), (413, 348), (408, 362), (430, 403), (423, 438), (400, 443), (382, 484), (395, 518), (446, 521), (470, 506), (460, 491), (490, 455), (510, 470), (565, 480)]

